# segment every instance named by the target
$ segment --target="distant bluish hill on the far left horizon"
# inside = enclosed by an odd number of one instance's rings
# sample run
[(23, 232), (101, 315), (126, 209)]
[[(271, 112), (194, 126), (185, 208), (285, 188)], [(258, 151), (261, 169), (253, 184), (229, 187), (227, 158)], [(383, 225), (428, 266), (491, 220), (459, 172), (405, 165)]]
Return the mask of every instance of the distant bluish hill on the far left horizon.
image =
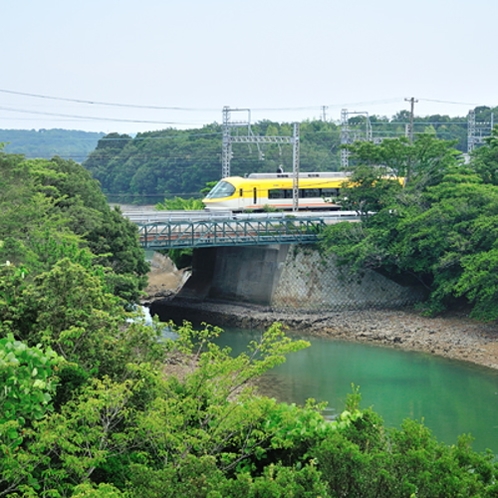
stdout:
[(82, 163), (97, 147), (104, 133), (78, 130), (0, 130), (4, 151), (26, 157), (60, 156)]

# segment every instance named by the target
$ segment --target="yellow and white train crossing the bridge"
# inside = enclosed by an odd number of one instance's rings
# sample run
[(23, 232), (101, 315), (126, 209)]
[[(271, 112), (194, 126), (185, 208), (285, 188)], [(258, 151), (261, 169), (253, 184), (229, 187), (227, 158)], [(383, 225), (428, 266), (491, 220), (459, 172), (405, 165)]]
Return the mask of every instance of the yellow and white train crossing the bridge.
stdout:
[[(207, 210), (263, 211), (267, 208), (291, 210), (292, 173), (252, 173), (242, 178), (220, 180), (202, 200)], [(348, 181), (344, 172), (301, 173), (299, 209), (338, 210), (339, 189)]]

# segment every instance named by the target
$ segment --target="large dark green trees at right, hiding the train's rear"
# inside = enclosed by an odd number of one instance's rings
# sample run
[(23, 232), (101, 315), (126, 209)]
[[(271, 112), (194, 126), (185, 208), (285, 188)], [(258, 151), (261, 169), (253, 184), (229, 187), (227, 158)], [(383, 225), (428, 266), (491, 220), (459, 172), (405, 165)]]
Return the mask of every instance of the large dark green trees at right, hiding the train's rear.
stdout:
[[(402, 191), (377, 192), (373, 178), (378, 166), (372, 165), (388, 162), (388, 151), (398, 146), (412, 147), (412, 153), (405, 154), (412, 160), (411, 180)], [(368, 182), (360, 184), (353, 195), (367, 205), (377, 196), (377, 213), (360, 225), (328, 227), (322, 248), (352, 271), (373, 269), (401, 283), (423, 286), (429, 313), (463, 302), (471, 306), (475, 318), (498, 318), (498, 190), (483, 183), (478, 174), (481, 163), (463, 166), (448, 144), (429, 136), (420, 137), (413, 146), (400, 141), (396, 147), (369, 144), (353, 150), (361, 161), (353, 174), (359, 171), (372, 179), (370, 187)], [(486, 152), (479, 155), (484, 156), (489, 157)], [(406, 164), (398, 164), (400, 174)]]

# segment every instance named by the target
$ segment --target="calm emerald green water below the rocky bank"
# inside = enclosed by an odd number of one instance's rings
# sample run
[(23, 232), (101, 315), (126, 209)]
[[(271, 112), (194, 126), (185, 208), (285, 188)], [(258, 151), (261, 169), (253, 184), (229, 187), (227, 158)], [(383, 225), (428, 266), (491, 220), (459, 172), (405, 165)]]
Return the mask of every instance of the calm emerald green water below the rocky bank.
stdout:
[[(227, 330), (219, 344), (238, 353), (258, 337), (260, 332)], [(470, 433), (474, 449), (498, 454), (498, 372), (427, 354), (305, 339), (311, 347), (266, 375), (264, 394), (298, 404), (327, 401), (334, 413), (344, 408), (354, 383), (362, 406), (372, 407), (388, 427), (405, 418), (423, 420), (440, 441), (453, 444)]]

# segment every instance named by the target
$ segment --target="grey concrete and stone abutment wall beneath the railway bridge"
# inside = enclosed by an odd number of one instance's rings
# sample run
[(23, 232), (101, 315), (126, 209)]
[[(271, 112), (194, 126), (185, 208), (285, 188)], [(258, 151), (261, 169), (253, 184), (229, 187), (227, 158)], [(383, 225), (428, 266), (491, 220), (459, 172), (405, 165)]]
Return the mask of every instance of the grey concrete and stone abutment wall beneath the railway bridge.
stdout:
[(339, 268), (312, 246), (278, 244), (194, 249), (192, 276), (178, 294), (299, 311), (392, 308), (422, 296), (374, 271)]

